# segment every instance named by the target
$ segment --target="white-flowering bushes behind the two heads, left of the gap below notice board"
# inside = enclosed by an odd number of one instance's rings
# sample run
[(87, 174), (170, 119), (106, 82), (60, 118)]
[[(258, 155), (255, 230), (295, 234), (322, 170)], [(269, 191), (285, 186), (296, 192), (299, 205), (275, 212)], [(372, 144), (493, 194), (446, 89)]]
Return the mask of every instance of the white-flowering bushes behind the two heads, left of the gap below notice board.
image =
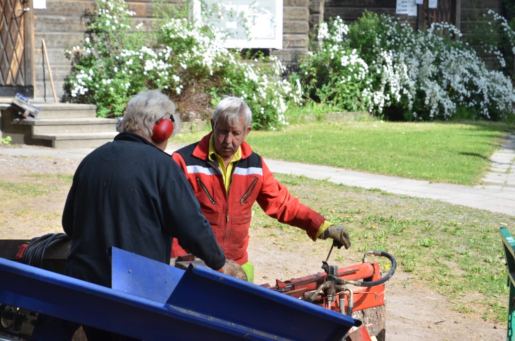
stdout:
[[(276, 58), (243, 60), (222, 46), (224, 34), (187, 18), (186, 12), (161, 13), (154, 35), (131, 28), (131, 16), (121, 0), (96, 0), (82, 46), (68, 51), (72, 74), (66, 79), (66, 99), (94, 103), (99, 116), (122, 115), (130, 96), (145, 88), (160, 89), (176, 102), (186, 89), (202, 91), (214, 100), (234, 94), (247, 100), (254, 128), (286, 124), (288, 103), (300, 103), (300, 86), (283, 79)], [(122, 34), (123, 32), (123, 34)], [(187, 95), (186, 95), (187, 96)]]

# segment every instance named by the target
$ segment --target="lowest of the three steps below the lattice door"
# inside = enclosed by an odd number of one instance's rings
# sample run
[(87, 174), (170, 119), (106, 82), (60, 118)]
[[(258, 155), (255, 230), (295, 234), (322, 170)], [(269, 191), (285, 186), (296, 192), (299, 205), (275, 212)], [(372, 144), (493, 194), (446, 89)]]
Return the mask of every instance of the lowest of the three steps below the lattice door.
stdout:
[(117, 134), (116, 131), (38, 134), (32, 135), (32, 139), (53, 148), (96, 148), (113, 141)]

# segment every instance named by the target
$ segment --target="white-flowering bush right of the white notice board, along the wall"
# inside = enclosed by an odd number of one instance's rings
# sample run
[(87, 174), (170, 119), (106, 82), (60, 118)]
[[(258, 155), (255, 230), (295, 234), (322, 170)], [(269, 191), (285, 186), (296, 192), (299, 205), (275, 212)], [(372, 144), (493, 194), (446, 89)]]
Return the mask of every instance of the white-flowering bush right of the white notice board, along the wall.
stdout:
[(301, 64), (304, 92), (390, 120), (447, 120), (458, 110), (497, 120), (512, 112), (511, 80), (455, 37), (461, 33), (447, 23), (423, 32), (370, 12), (350, 27), (336, 18), (321, 25)]

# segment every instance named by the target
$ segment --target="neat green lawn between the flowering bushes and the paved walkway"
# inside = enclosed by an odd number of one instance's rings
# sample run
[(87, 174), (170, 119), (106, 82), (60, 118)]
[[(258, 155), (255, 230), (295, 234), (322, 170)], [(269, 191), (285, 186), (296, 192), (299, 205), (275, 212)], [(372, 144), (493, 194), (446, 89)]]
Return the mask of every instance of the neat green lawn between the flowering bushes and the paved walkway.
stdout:
[[(486, 122), (320, 121), (252, 131), (247, 142), (272, 159), (473, 185), (488, 171), (506, 129)], [(173, 142), (192, 143), (206, 132), (179, 134)]]

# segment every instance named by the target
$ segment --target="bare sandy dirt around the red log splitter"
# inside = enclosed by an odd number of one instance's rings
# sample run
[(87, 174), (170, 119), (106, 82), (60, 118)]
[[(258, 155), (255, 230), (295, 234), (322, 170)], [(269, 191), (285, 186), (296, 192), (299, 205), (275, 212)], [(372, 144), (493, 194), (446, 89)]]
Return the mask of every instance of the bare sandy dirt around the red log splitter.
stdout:
[[(249, 259), (252, 259), (256, 269), (256, 284), (274, 285), (276, 279), (287, 280), (316, 274), (321, 271), (321, 261), (326, 257), (324, 255), (320, 259), (306, 260), (303, 257), (307, 253), (304, 247), (309, 248), (309, 244), (299, 244), (297, 252), (283, 252), (269, 247), (273, 246), (273, 238), (270, 238), (268, 245), (263, 240), (260, 245), (256, 245), (252, 243), (252, 230), (250, 241)], [(345, 254), (344, 250), (337, 252)], [(339, 266), (349, 266), (360, 261), (349, 258), (338, 263)], [(401, 271), (396, 271), (391, 280), (386, 282), (387, 341), (506, 339), (506, 326), (452, 311), (447, 300), (436, 291), (427, 291), (409, 283), (408, 274)]]

